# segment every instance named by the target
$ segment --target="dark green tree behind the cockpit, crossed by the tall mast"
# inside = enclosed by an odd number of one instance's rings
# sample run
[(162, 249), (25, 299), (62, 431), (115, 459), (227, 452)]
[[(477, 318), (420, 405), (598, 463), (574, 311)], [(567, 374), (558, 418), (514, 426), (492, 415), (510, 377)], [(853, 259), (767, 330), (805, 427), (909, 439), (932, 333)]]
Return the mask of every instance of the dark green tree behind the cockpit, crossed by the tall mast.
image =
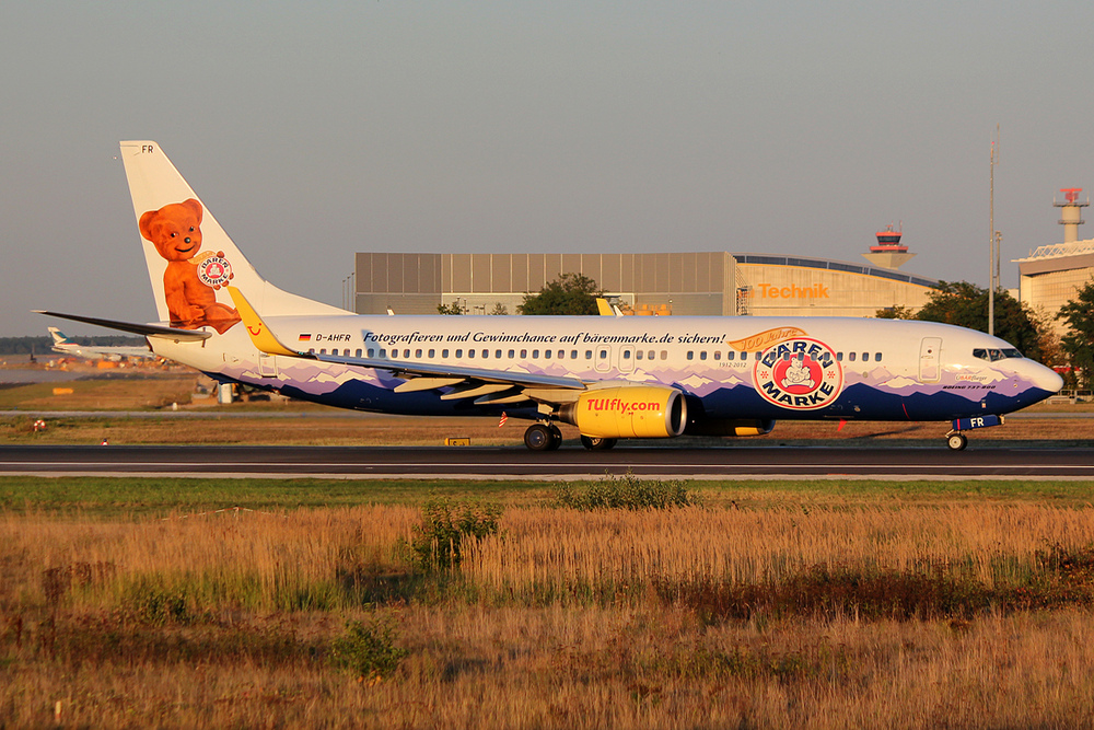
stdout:
[[(945, 322), (988, 332), (988, 290), (968, 281), (939, 281), (930, 300), (916, 313), (922, 322)], [(1019, 348), (1026, 357), (1041, 360), (1043, 333), (1028, 305), (1005, 291), (996, 292), (996, 336)]]

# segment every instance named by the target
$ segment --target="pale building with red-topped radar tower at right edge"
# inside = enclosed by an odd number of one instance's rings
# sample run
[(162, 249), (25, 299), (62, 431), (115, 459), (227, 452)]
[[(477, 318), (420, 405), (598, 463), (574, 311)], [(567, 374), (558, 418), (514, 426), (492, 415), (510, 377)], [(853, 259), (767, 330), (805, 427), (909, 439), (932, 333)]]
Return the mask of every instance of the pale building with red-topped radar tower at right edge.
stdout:
[(1071, 301), (1075, 292), (1094, 278), (1094, 239), (1079, 240), (1082, 209), (1090, 199), (1080, 202), (1082, 188), (1063, 188), (1063, 202), (1052, 201), (1060, 208), (1059, 223), (1063, 225), (1063, 243), (1040, 246), (1026, 258), (1015, 259), (1019, 265), (1019, 299), (1034, 312), (1049, 315), (1058, 335), (1067, 333), (1067, 324), (1051, 317)]

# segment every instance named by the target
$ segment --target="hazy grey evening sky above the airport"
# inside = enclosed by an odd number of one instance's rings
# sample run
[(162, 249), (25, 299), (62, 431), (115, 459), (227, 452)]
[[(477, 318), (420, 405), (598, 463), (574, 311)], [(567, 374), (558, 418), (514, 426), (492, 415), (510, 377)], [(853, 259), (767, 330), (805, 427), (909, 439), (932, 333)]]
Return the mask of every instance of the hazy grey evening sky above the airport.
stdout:
[(891, 223), (903, 270), (986, 286), (998, 126), (1016, 287), (1059, 189), (1094, 188), (1092, 27), (1069, 1), (10, 0), (0, 336), (155, 318), (128, 139), (267, 279), (341, 305), (362, 251), (864, 263)]

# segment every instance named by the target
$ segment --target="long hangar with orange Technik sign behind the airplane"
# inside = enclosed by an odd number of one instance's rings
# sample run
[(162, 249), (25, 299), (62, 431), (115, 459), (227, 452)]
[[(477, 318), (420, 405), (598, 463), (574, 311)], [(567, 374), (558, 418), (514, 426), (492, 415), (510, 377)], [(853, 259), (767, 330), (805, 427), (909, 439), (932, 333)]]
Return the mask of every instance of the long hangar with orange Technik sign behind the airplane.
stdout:
[[(917, 310), (936, 280), (897, 267), (915, 254), (891, 229), (863, 254), (868, 265), (729, 252), (660, 254), (359, 253), (353, 305), (363, 314), (516, 314), (526, 292), (560, 274), (581, 274), (625, 314), (874, 316)], [(886, 239), (883, 241), (883, 237)]]

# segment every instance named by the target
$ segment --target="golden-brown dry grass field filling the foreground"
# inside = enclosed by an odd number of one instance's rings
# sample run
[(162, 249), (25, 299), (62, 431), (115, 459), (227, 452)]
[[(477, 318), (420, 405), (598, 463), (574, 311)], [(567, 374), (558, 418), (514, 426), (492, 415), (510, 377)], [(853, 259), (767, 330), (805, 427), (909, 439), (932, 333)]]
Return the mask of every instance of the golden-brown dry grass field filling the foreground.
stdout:
[[(883, 502), (510, 509), (437, 575), (399, 547), (406, 507), (8, 514), (0, 717), (40, 727), (60, 702), (62, 725), (96, 727), (1094, 723), (1094, 509)], [(877, 584), (979, 592), (860, 610)], [(746, 589), (736, 613), (702, 603)], [(1020, 591), (1052, 601), (1003, 600)], [(330, 647), (372, 612), (409, 653), (359, 682)]]

